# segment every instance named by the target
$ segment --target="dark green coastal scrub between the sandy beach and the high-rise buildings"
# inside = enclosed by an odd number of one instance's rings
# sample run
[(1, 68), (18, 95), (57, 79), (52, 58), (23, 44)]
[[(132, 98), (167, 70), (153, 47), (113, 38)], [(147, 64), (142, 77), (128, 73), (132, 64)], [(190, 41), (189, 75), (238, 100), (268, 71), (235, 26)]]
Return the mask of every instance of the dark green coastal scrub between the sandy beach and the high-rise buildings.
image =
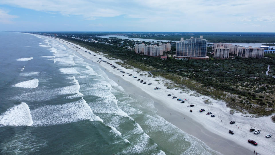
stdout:
[[(176, 60), (168, 57), (167, 60), (162, 60), (159, 57), (123, 51), (117, 46), (66, 37), (59, 38), (74, 42), (91, 51), (107, 54), (109, 58), (121, 59), (124, 63), (120, 65), (124, 67), (132, 66), (144, 71), (192, 68), (194, 70), (154, 72), (153, 74), (175, 82), (176, 85), (167, 85), (167, 89), (180, 87), (184, 91), (187, 87), (200, 94), (224, 100), (230, 108), (244, 113), (271, 115), (275, 112), (275, 78), (265, 74), (268, 65), (271, 65), (271, 70), (274, 69), (274, 59), (243, 59), (232, 55), (229, 59)], [(119, 39), (117, 41), (119, 42)], [(201, 69), (209, 71), (201, 71)], [(217, 69), (220, 71), (214, 71)]]

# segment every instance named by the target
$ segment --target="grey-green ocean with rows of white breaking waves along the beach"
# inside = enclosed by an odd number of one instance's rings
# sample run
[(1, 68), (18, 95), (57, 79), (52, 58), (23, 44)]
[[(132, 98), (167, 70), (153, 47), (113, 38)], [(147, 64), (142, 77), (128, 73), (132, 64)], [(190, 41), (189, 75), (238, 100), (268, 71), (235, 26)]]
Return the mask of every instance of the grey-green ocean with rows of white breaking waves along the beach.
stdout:
[(52, 38), (0, 46), (0, 154), (219, 154)]

